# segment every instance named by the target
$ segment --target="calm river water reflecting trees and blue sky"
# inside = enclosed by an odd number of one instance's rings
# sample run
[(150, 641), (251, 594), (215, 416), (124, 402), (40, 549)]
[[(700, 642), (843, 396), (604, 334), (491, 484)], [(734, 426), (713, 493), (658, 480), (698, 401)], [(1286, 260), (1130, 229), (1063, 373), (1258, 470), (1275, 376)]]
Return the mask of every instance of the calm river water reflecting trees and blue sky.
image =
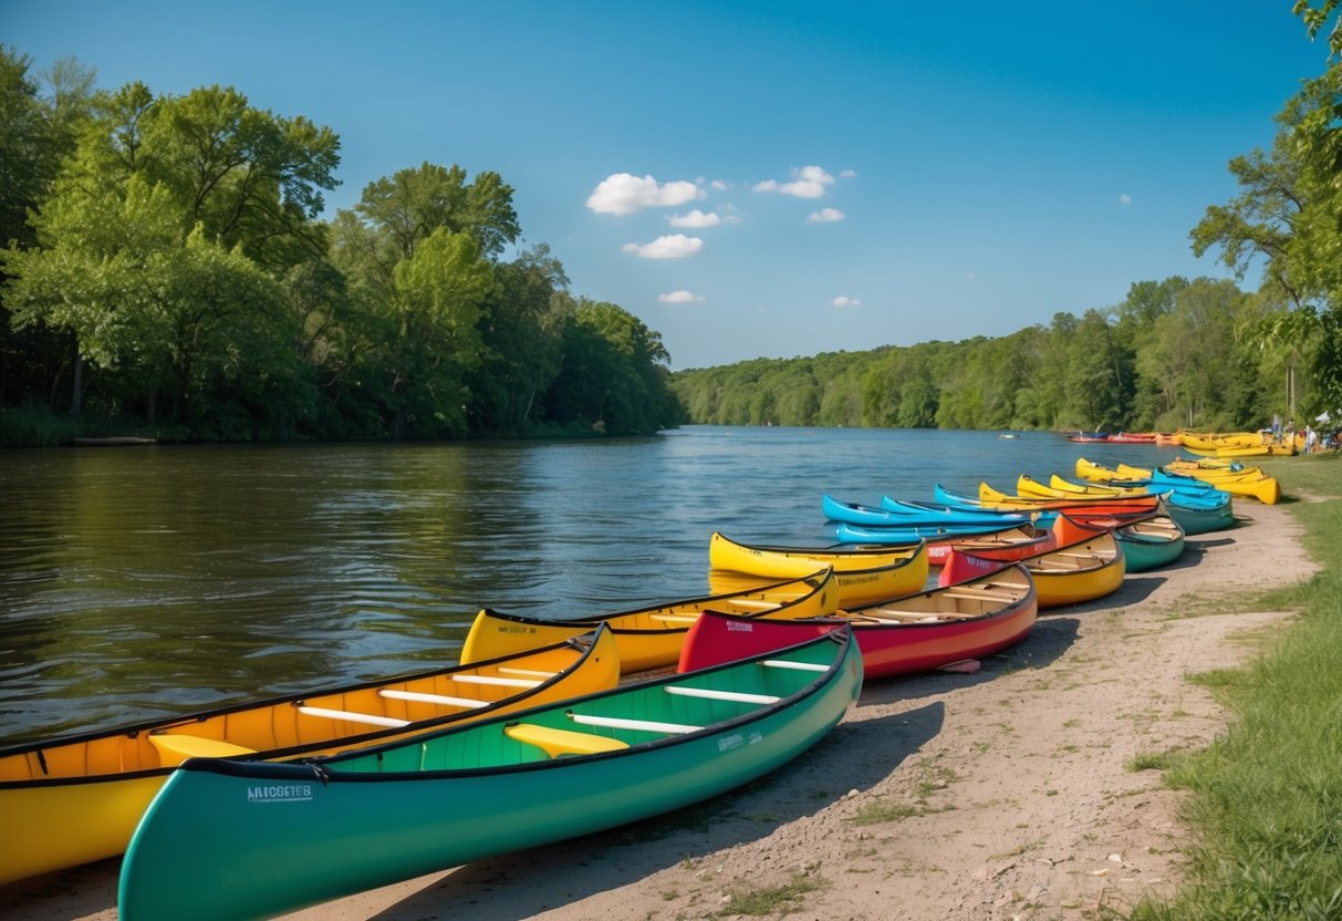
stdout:
[(475, 611), (707, 592), (709, 536), (832, 542), (824, 491), (1013, 489), (1060, 435), (690, 426), (613, 442), (0, 452), (0, 740), (456, 661)]

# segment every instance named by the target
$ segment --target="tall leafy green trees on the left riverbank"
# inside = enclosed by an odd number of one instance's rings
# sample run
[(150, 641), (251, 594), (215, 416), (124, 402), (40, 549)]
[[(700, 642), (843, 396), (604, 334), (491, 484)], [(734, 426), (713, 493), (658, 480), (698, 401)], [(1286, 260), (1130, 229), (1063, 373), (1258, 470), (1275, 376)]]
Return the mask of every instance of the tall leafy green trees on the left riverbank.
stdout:
[[(660, 336), (424, 162), (321, 220), (340, 138), (0, 47), (0, 443), (652, 432)], [(514, 255), (503, 259), (503, 254)]]

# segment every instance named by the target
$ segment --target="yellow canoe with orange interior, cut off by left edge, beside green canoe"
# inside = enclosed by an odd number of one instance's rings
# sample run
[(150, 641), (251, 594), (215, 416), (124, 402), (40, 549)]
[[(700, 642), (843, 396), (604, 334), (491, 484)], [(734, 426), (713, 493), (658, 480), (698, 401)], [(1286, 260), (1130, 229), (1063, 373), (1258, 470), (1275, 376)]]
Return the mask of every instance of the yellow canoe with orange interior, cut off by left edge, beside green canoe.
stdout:
[(0, 882), (121, 854), (187, 757), (295, 759), (613, 687), (609, 630), (525, 654), (0, 749)]

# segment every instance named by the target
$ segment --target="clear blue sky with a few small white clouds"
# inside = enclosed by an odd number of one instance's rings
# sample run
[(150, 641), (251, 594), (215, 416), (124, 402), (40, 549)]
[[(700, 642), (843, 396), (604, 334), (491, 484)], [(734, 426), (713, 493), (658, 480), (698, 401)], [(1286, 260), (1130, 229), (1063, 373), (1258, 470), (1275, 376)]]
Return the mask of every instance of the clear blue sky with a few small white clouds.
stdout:
[(330, 126), (329, 215), (424, 161), (495, 171), (526, 244), (679, 369), (1224, 277), (1189, 231), (1326, 66), (1291, 5), (0, 0), (0, 42)]

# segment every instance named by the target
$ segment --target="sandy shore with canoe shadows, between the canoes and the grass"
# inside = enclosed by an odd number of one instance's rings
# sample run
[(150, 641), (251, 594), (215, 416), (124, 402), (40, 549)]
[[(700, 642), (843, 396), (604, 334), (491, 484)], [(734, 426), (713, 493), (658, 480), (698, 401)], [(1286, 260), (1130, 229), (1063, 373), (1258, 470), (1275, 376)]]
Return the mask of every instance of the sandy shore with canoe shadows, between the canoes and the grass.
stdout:
[[(733, 893), (800, 881), (794, 917), (1092, 918), (1180, 879), (1178, 793), (1139, 753), (1196, 749), (1225, 724), (1185, 675), (1232, 666), (1272, 611), (1217, 595), (1307, 577), (1282, 506), (1190, 537), (1178, 565), (1045, 612), (977, 674), (871, 682), (798, 761), (662, 819), (482, 861), (291, 920), (730, 917)], [(876, 819), (876, 820), (872, 820)], [(9, 921), (111, 921), (118, 861), (0, 886)]]

